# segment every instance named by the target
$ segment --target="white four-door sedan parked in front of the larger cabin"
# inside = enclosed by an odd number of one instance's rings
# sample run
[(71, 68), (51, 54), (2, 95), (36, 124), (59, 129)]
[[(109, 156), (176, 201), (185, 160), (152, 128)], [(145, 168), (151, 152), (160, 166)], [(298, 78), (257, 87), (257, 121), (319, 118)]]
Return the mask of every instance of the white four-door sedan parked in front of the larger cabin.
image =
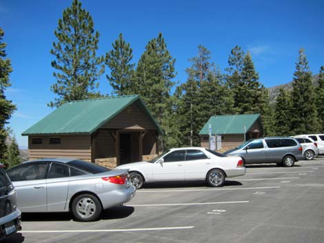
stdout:
[(241, 157), (227, 157), (201, 147), (168, 149), (153, 160), (120, 165), (117, 169), (130, 169), (130, 180), (136, 189), (144, 182), (194, 180), (221, 187), (226, 177), (245, 175)]

